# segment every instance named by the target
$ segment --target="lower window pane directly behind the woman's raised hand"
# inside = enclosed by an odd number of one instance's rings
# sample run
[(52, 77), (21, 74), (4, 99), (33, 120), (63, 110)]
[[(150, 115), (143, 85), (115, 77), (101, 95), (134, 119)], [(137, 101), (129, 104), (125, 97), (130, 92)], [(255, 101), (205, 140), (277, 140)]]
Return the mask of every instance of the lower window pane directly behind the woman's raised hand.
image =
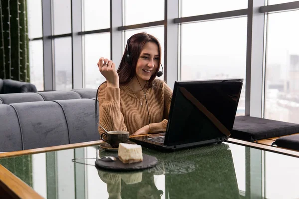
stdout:
[(84, 35), (85, 88), (97, 89), (106, 80), (97, 66), (100, 57), (110, 59), (110, 33)]

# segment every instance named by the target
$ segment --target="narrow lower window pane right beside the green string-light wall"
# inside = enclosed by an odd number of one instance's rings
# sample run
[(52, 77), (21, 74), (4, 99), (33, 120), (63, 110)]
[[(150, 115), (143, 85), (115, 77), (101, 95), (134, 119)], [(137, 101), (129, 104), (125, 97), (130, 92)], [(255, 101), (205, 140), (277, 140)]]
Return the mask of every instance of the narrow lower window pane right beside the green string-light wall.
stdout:
[(29, 42), (30, 83), (36, 86), (37, 91), (44, 90), (43, 74), (43, 42), (42, 40)]

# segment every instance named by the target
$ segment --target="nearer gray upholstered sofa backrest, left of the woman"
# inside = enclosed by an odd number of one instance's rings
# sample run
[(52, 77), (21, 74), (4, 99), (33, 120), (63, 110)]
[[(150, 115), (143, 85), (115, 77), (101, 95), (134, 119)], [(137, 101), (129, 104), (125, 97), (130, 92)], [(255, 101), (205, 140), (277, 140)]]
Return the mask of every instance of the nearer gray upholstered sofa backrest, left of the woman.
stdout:
[(94, 99), (0, 105), (0, 152), (94, 140), (100, 140)]

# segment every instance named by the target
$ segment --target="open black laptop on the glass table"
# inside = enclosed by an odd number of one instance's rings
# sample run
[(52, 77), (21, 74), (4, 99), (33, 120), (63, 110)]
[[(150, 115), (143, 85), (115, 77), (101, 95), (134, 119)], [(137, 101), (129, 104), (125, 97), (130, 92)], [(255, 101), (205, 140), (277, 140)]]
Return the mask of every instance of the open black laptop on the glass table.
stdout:
[(233, 129), (243, 79), (176, 81), (166, 132), (130, 137), (159, 151), (221, 143)]

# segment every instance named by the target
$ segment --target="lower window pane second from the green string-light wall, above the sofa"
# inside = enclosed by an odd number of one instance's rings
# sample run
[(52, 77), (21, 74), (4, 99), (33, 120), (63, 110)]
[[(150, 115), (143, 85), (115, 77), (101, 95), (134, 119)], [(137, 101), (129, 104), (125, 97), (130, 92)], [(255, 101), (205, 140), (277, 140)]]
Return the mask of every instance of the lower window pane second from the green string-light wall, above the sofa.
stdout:
[(72, 89), (72, 38), (54, 39), (55, 90)]

